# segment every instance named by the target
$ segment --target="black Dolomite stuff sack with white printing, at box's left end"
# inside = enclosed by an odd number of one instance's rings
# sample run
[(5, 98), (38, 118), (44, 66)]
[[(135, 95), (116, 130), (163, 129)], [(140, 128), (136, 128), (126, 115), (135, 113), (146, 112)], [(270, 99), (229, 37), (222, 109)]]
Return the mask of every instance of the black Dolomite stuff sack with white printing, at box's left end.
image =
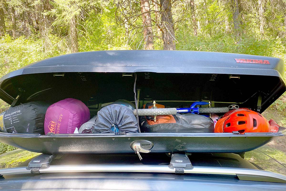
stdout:
[(3, 133), (36, 133), (44, 135), (45, 113), (49, 105), (41, 101), (10, 107), (0, 114)]

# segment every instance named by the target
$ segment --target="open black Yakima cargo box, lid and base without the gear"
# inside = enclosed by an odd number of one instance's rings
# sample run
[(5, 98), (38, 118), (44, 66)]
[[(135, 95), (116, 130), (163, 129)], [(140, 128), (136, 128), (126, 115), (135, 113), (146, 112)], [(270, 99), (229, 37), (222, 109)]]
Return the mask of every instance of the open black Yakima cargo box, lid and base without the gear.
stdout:
[[(19, 105), (55, 103), (68, 97), (88, 105), (91, 115), (117, 99), (140, 106), (153, 99), (170, 107), (210, 101), (263, 112), (285, 92), (279, 58), (193, 51), (96, 51), (57, 56), (10, 72), (0, 79), (0, 98)], [(15, 99), (17, 101), (15, 101)], [(92, 116), (91, 116), (92, 117)], [(282, 133), (9, 134), (3, 143), (40, 153), (131, 153), (130, 143), (154, 144), (152, 152), (244, 152)]]

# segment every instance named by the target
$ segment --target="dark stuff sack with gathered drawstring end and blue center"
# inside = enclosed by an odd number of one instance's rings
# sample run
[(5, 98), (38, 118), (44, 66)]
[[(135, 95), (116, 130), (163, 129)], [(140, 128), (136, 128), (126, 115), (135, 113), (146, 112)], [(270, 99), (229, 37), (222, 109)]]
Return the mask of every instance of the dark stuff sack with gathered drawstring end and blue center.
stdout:
[(97, 113), (94, 133), (139, 133), (133, 109), (135, 109), (135, 105), (126, 100), (117, 100), (111, 105), (103, 107)]

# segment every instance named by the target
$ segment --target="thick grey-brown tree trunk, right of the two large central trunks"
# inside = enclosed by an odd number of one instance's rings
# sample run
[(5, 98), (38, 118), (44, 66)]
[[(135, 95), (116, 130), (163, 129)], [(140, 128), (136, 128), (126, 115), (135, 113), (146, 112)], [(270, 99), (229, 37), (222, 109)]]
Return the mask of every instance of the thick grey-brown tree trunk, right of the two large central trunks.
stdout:
[(164, 50), (176, 50), (171, 0), (161, 0), (161, 23)]

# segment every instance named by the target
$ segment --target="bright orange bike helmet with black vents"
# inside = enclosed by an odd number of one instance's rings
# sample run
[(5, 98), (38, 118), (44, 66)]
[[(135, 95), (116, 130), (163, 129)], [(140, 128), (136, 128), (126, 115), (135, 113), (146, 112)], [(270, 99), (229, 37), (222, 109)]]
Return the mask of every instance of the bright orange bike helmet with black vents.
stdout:
[(253, 132), (270, 132), (268, 121), (255, 111), (241, 108), (227, 113), (215, 125), (215, 133), (232, 133), (238, 131), (240, 134)]

